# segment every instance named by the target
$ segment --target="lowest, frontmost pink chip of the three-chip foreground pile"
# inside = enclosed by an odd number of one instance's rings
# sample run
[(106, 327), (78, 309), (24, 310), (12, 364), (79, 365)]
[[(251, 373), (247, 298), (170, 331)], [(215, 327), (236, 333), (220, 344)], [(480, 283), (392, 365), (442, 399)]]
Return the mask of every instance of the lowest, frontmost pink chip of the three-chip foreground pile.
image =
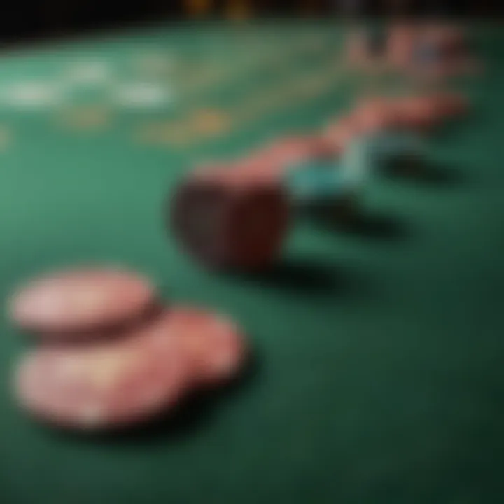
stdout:
[[(169, 346), (169, 349), (168, 349)], [(111, 430), (171, 409), (188, 385), (176, 340), (133, 337), (107, 344), (42, 348), (22, 358), (15, 395), (34, 416), (63, 428)]]

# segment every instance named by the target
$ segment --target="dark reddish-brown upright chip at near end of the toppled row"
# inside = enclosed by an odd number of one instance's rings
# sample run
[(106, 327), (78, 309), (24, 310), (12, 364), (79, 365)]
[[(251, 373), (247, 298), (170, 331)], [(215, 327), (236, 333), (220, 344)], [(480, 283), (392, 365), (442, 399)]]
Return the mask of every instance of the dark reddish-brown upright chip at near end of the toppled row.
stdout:
[(190, 174), (167, 214), (183, 249), (204, 265), (257, 270), (278, 257), (289, 212), (281, 183), (245, 165)]

